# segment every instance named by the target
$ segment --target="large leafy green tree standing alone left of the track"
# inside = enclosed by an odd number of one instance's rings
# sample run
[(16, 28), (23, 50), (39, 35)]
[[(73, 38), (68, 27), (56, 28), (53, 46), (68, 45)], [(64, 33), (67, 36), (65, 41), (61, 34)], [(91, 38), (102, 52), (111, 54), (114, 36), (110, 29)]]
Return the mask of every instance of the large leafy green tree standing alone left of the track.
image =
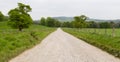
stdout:
[(12, 28), (18, 28), (22, 31), (23, 28), (28, 28), (32, 24), (32, 18), (28, 14), (32, 9), (29, 5), (18, 3), (18, 7), (9, 11), (8, 24)]

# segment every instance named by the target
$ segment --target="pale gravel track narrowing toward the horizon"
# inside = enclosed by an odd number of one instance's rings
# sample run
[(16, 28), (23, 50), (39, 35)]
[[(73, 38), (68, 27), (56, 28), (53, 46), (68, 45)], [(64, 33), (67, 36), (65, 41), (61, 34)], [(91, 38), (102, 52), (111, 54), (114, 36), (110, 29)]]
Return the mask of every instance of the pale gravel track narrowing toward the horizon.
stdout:
[(41, 44), (23, 52), (10, 62), (120, 62), (120, 59), (59, 28)]

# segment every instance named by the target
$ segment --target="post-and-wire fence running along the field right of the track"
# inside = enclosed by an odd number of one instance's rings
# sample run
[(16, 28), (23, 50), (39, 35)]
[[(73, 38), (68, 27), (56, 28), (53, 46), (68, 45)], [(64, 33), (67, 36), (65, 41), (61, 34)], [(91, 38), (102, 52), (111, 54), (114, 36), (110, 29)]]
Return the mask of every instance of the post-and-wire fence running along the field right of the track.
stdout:
[(84, 32), (84, 33), (91, 33), (91, 34), (98, 34), (98, 35), (105, 35), (105, 36), (112, 36), (112, 37), (120, 37), (120, 29), (101, 29), (101, 28), (68, 28), (73, 29), (78, 32)]

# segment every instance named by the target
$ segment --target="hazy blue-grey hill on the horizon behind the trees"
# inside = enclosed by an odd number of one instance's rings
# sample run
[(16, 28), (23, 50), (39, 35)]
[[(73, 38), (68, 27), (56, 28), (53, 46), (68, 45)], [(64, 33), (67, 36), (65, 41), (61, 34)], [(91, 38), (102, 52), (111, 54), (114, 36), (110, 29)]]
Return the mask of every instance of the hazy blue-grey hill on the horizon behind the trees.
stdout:
[[(65, 21), (73, 21), (74, 18), (73, 17), (53, 17), (55, 19), (58, 19), (61, 22), (65, 22)], [(95, 21), (95, 22), (110, 22), (110, 21), (114, 21), (114, 22), (120, 22), (120, 19), (116, 19), (116, 20), (103, 20), (103, 19), (93, 19), (93, 18), (88, 18), (87, 21)]]

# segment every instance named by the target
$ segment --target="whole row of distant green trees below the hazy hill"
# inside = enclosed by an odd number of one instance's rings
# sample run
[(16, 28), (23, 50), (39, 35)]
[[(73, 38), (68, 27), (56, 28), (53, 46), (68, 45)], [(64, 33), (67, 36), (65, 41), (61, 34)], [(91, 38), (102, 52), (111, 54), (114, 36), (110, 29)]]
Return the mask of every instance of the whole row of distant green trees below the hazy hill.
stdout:
[(120, 22), (95, 22), (95, 21), (86, 21), (87, 16), (75, 16), (73, 21), (60, 22), (57, 19), (52, 17), (40, 19), (40, 25), (48, 27), (68, 27), (68, 28), (120, 28)]

